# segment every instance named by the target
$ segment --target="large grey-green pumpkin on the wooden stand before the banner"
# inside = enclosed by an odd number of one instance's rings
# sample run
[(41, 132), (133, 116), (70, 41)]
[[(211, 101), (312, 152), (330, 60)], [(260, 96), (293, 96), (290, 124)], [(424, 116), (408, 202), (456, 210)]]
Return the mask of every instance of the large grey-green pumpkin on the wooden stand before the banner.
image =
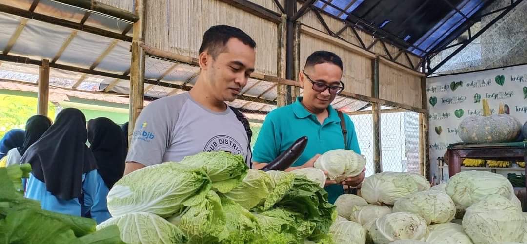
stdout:
[(503, 113), (500, 104), (499, 113), (492, 115), (489, 102), (483, 99), (483, 115), (463, 119), (457, 128), (457, 135), (464, 143), (489, 144), (514, 141), (521, 133), (518, 119)]

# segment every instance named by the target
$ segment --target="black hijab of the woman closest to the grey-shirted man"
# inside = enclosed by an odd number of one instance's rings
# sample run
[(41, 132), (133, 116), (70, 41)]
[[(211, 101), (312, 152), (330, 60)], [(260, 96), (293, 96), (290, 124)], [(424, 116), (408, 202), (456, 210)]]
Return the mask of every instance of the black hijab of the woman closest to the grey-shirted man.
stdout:
[(97, 171), (111, 189), (124, 173), (126, 151), (122, 130), (108, 118), (92, 119), (88, 123), (88, 141)]

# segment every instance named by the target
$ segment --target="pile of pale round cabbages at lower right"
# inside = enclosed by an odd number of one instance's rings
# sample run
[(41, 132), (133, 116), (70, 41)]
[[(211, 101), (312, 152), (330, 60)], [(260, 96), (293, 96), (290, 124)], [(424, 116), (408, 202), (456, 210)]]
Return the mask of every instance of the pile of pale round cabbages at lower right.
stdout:
[[(429, 189), (421, 176), (383, 172), (365, 179), (362, 197), (340, 196), (330, 227), (335, 243), (527, 243), (527, 219), (510, 182), (466, 171)], [(454, 219), (456, 215), (461, 219)], [(462, 216), (464, 215), (464, 216)]]

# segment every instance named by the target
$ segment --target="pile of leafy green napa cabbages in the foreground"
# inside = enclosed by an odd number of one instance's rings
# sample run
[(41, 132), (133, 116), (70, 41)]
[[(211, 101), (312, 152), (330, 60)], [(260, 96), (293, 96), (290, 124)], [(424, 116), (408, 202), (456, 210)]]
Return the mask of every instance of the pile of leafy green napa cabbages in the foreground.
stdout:
[(327, 240), (336, 218), (305, 176), (249, 170), (241, 156), (202, 152), (132, 172), (108, 195), (129, 243), (299, 243)]

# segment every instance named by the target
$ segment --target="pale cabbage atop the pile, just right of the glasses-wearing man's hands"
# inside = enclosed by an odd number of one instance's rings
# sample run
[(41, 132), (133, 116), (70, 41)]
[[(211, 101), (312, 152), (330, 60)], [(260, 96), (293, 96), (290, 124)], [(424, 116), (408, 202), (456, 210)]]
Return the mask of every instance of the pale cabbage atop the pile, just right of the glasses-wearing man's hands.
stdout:
[(382, 172), (364, 179), (360, 192), (370, 204), (394, 205), (401, 197), (428, 189), (430, 182), (418, 174)]

